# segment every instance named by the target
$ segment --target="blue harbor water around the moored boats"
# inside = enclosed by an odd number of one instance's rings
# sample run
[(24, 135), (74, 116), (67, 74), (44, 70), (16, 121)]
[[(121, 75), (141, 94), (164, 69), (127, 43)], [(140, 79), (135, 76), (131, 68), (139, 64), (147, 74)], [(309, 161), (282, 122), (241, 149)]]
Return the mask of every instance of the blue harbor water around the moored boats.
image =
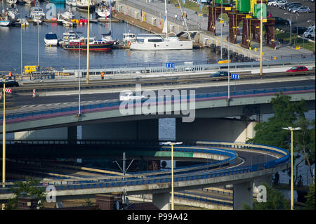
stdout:
[[(11, 7), (6, 4), (5, 8)], [(46, 2), (40, 3), (44, 12)], [(86, 18), (87, 13), (76, 11), (76, 8), (65, 4), (55, 4), (57, 13), (68, 11), (72, 8), (74, 18)], [(15, 6), (18, 8), (19, 18), (25, 18), (29, 15), (31, 6)], [(91, 13), (92, 18), (96, 18), (95, 13)], [(62, 68), (76, 68), (79, 65), (79, 52), (66, 51), (61, 47), (49, 47), (44, 44), (45, 34), (53, 32), (57, 34), (58, 39), (62, 37), (62, 33), (72, 29), (86, 37), (87, 25), (77, 25), (77, 27), (67, 28), (58, 25), (56, 22), (46, 22), (44, 25), (33, 25), (29, 23), (29, 27), (0, 27), (0, 71), (13, 71), (20, 73), (21, 68), (21, 37), (22, 37), (22, 66), (37, 65), (39, 61), (40, 67), (54, 67), (58, 70)], [(90, 37), (101, 39), (101, 34), (110, 31), (109, 22), (98, 22), (90, 24)], [(135, 27), (127, 22), (112, 22), (113, 39), (121, 40), (124, 32), (132, 32), (134, 34), (146, 33), (145, 30)], [(39, 46), (39, 53), (38, 53)], [(39, 55), (39, 58), (38, 58)], [(86, 52), (82, 51), (81, 67), (86, 67)], [(112, 65), (124, 65), (147, 62), (181, 62), (181, 61), (197, 61), (211, 60), (216, 62), (218, 56), (211, 52), (209, 48), (199, 48), (184, 51), (130, 51), (129, 49), (112, 49), (110, 52), (90, 52), (89, 67), (107, 67)]]

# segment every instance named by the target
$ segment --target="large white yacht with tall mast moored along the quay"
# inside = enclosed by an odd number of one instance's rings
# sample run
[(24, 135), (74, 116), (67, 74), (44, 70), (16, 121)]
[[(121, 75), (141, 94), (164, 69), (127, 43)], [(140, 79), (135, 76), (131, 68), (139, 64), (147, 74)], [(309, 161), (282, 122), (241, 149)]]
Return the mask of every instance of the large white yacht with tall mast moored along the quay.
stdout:
[(131, 50), (161, 51), (161, 50), (192, 50), (192, 40), (180, 40), (176, 35), (169, 35), (167, 22), (166, 0), (164, 1), (165, 18), (162, 32), (166, 34), (138, 34), (135, 42), (131, 42)]

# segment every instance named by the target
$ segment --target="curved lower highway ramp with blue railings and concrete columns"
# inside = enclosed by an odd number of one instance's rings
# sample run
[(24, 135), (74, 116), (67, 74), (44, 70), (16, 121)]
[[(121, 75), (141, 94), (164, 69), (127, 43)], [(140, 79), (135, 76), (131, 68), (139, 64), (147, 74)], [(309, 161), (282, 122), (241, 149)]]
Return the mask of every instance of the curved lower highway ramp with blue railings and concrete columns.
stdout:
[[(15, 143), (16, 147), (19, 143)], [(20, 143), (22, 144), (22, 143)], [(124, 141), (117, 143), (124, 144)], [(125, 142), (131, 145), (131, 143)], [(156, 150), (159, 156), (170, 157), (170, 147), (157, 143), (141, 143), (147, 149)], [(135, 146), (134, 146), (135, 147)], [(154, 149), (152, 149), (154, 147)], [(191, 154), (195, 158), (213, 158), (212, 162), (175, 169), (174, 190), (190, 190), (233, 184), (234, 209), (242, 209), (242, 203), (252, 205), (254, 188), (271, 182), (271, 174), (287, 169), (289, 153), (267, 145), (198, 141), (191, 145), (174, 147), (175, 158)], [(187, 156), (187, 155), (186, 155)], [(256, 158), (256, 159), (254, 159)], [(45, 183), (43, 187), (43, 183)], [(15, 183), (6, 183), (0, 189), (0, 200), (12, 197), (8, 190)], [(44, 180), (41, 186), (54, 185), (57, 199), (88, 197), (100, 193), (123, 192), (127, 195), (152, 194), (154, 204), (160, 209), (169, 208), (171, 191), (170, 171), (128, 173), (126, 176)]]

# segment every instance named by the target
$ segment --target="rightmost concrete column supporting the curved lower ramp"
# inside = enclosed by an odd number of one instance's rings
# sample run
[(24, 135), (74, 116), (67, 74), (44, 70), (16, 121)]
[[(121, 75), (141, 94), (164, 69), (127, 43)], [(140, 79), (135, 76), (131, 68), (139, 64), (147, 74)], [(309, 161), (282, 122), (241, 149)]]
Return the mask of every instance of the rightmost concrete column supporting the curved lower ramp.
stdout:
[(234, 210), (242, 210), (243, 204), (252, 207), (253, 205), (253, 185), (254, 181), (234, 184)]

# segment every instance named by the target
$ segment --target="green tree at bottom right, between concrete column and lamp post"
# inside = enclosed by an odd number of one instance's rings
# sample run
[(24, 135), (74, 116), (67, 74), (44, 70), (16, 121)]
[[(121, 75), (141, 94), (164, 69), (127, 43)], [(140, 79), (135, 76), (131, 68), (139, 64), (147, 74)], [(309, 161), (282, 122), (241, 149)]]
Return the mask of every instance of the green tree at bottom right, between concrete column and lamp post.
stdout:
[(289, 210), (290, 202), (285, 199), (281, 192), (275, 190), (273, 187), (270, 187), (266, 183), (263, 185), (267, 189), (267, 202), (257, 202), (257, 199), (254, 199), (253, 207), (244, 204), (244, 210)]

